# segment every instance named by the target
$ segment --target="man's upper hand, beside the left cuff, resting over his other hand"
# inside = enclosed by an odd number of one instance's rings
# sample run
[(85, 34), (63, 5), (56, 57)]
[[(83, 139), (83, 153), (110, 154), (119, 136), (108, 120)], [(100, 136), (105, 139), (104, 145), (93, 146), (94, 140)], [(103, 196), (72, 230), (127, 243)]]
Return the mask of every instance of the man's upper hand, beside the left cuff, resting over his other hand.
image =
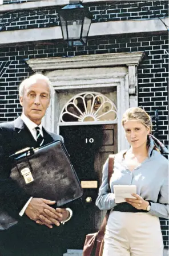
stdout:
[[(56, 226), (60, 225), (60, 221), (63, 218), (61, 211), (56, 211), (54, 208), (50, 207), (48, 204), (53, 205), (55, 201), (46, 200), (43, 198), (33, 198), (31, 199), (29, 205), (25, 210), (25, 214), (31, 219), (35, 220), (38, 224), (45, 224), (47, 227), (52, 228), (51, 224), (55, 224)], [(44, 210), (50, 212), (50, 215), (47, 215)], [(63, 213), (64, 214), (64, 213)], [(50, 216), (52, 215), (52, 219), (54, 222), (50, 220)]]

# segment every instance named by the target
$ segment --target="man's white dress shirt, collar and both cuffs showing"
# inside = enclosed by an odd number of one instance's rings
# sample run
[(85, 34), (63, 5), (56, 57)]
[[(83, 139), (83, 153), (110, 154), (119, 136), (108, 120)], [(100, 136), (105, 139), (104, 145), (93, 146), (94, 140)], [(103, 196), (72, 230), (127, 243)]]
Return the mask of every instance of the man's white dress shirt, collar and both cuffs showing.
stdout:
[[(35, 129), (35, 127), (39, 127), (40, 128), (40, 133), (43, 136), (43, 131), (42, 131), (42, 123), (40, 125), (37, 125), (36, 123), (34, 123), (33, 121), (31, 121), (28, 117), (26, 117), (26, 115), (24, 113), (22, 113), (21, 115), (21, 119), (22, 121), (25, 123), (25, 125), (27, 126), (27, 128), (30, 130), (31, 134), (33, 135), (34, 139), (37, 141), (37, 131)], [(23, 216), (23, 214), (25, 213), (25, 210), (27, 208), (27, 206), (29, 205), (30, 201), (33, 199), (33, 197), (31, 196), (30, 199), (27, 201), (27, 203), (24, 205), (24, 207), (22, 208), (22, 210), (19, 212), (20, 216)], [(69, 211), (70, 215), (69, 218), (66, 219), (64, 222), (61, 222), (62, 224), (65, 224), (65, 222), (67, 222), (68, 220), (70, 220), (71, 216), (73, 215), (73, 211), (71, 211), (70, 208), (66, 208), (67, 211)]]

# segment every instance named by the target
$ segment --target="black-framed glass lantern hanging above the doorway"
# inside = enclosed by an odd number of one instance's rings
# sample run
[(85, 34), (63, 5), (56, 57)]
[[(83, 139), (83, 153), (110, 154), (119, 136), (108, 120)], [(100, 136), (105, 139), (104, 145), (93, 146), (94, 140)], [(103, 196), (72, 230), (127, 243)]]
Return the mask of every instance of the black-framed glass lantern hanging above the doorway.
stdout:
[(92, 14), (80, 1), (70, 1), (59, 10), (63, 39), (70, 45), (83, 45), (87, 41)]

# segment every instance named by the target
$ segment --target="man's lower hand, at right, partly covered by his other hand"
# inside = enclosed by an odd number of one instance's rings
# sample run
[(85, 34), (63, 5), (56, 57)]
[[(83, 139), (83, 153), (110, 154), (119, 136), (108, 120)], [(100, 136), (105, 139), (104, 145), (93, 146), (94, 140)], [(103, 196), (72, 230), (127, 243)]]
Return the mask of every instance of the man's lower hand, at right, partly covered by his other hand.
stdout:
[[(47, 217), (44, 215), (39, 216), (39, 220), (37, 220), (38, 224), (43, 225), (48, 220), (51, 221), (51, 223), (58, 226), (58, 221), (63, 222), (66, 219), (69, 218), (70, 212), (67, 211), (65, 208), (56, 208), (55, 212), (51, 212), (49, 209), (44, 210), (45, 214), (47, 214)], [(59, 218), (58, 218), (59, 215)]]

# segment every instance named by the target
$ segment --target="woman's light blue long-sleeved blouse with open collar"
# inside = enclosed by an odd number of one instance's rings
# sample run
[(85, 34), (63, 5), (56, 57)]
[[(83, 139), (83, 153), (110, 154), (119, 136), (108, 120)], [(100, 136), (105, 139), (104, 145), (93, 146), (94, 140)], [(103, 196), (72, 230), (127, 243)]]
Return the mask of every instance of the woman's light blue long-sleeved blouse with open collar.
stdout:
[(111, 193), (108, 193), (107, 159), (103, 165), (102, 185), (96, 199), (96, 205), (100, 210), (113, 210), (115, 207), (113, 185), (136, 185), (137, 194), (144, 200), (153, 202), (148, 213), (168, 218), (168, 160), (156, 150), (152, 150), (153, 147), (154, 142), (151, 138), (148, 157), (132, 172), (124, 164), (123, 154), (126, 150), (115, 155), (114, 173), (110, 180)]

